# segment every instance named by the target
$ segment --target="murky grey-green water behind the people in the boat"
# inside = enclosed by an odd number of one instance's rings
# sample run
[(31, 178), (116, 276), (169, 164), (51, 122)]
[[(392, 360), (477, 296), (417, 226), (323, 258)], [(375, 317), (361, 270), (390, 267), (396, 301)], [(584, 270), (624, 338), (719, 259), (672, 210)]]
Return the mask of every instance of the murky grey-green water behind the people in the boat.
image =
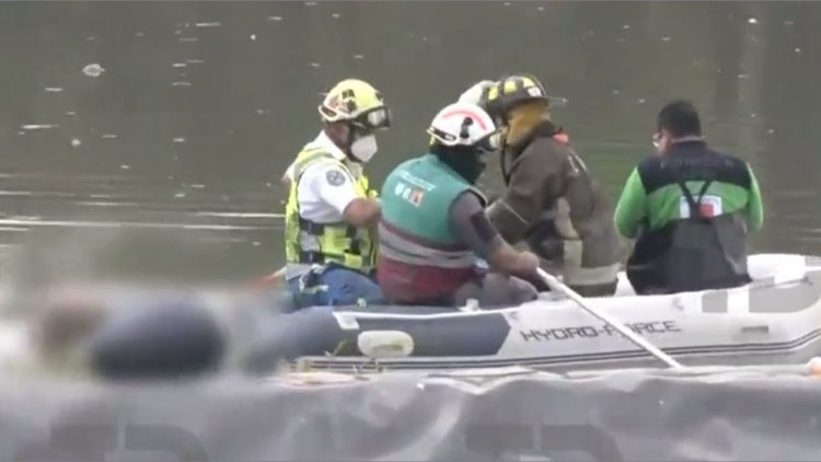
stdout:
[(554, 117), (613, 200), (657, 111), (692, 99), (758, 170), (754, 250), (821, 254), (819, 20), (811, 2), (4, 2), (0, 249), (27, 244), (31, 274), (262, 274), (321, 91), (384, 92), (381, 182), (467, 85), (525, 71), (569, 100)]

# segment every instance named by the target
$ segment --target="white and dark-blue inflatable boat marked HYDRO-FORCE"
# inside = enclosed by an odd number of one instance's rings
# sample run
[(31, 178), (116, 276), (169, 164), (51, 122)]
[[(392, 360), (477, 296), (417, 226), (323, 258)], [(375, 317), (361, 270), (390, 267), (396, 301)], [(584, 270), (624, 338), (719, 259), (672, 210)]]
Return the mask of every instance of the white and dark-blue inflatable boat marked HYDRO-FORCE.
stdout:
[[(587, 299), (683, 365), (806, 362), (821, 354), (821, 257), (756, 254), (743, 287)], [(312, 370), (544, 370), (663, 367), (613, 326), (559, 294), (520, 307), (310, 308), (257, 325), (247, 367)]]

